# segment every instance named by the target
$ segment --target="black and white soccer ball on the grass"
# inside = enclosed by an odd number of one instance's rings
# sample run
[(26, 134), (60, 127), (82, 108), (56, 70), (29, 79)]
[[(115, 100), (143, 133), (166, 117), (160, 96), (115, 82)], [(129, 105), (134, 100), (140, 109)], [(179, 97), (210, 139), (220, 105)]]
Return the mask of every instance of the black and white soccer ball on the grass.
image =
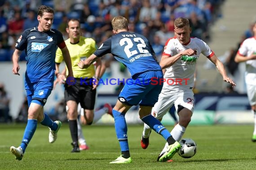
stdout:
[(179, 141), (181, 149), (178, 150), (178, 154), (183, 158), (193, 157), (196, 153), (196, 143), (192, 139), (181, 139)]

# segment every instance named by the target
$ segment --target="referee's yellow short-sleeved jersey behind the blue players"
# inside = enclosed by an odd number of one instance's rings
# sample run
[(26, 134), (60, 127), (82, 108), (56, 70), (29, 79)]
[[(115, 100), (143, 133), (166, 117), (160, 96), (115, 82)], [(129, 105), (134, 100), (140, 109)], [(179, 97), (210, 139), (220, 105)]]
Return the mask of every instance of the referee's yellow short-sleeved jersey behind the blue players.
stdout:
[[(96, 43), (93, 40), (93, 38), (85, 38), (80, 36), (79, 43), (76, 43), (76, 44), (71, 44), (70, 38), (68, 38), (65, 41), (65, 43), (71, 56), (72, 70), (73, 70), (74, 77), (75, 78), (93, 77), (95, 74), (95, 68), (93, 64), (91, 64), (88, 68), (85, 68), (85, 69), (81, 69), (77, 65), (81, 59), (88, 58), (97, 49)], [(62, 63), (62, 61), (63, 61), (62, 51), (60, 50), (60, 48), (58, 48), (56, 51), (55, 63)], [(68, 74), (67, 69), (66, 69), (66, 74)]]

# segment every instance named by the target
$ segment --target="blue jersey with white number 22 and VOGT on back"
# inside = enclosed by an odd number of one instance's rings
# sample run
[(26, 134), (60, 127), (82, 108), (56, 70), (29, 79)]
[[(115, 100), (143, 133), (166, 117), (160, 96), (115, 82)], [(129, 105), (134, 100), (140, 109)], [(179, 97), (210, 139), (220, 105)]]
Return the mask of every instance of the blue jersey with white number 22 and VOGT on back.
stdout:
[(107, 53), (123, 63), (133, 76), (134, 74), (162, 70), (150, 42), (143, 35), (120, 32), (108, 38), (95, 52), (101, 57)]

